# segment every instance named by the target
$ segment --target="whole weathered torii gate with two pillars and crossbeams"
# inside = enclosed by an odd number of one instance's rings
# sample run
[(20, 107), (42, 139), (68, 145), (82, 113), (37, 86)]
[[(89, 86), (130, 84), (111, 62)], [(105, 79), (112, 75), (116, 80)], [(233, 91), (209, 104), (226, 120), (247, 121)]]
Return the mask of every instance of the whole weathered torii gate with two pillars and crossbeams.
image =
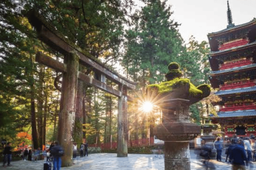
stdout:
[[(135, 89), (136, 83), (108, 69), (89, 52), (64, 38), (35, 9), (30, 10), (27, 17), (30, 24), (36, 28), (38, 39), (64, 55), (64, 63), (62, 63), (41, 52), (36, 54), (37, 62), (63, 73), (58, 129), (58, 140), (65, 150), (62, 166), (72, 166), (72, 133), (75, 121), (77, 79), (118, 97), (117, 156), (126, 157), (128, 153), (127, 100), (132, 100), (127, 96), (127, 89)], [(99, 78), (95, 79), (79, 72), (79, 64), (92, 67)], [(105, 83), (106, 78), (118, 84), (118, 90), (108, 86)]]

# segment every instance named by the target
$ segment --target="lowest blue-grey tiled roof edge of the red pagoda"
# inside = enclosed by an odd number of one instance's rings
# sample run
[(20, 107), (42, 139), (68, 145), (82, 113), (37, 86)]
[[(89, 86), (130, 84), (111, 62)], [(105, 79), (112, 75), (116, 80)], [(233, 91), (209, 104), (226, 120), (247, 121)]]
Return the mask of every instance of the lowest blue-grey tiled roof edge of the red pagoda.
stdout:
[(231, 112), (219, 112), (218, 116), (210, 115), (212, 118), (229, 118), (229, 117), (244, 117), (244, 116), (256, 116), (256, 110), (239, 110)]

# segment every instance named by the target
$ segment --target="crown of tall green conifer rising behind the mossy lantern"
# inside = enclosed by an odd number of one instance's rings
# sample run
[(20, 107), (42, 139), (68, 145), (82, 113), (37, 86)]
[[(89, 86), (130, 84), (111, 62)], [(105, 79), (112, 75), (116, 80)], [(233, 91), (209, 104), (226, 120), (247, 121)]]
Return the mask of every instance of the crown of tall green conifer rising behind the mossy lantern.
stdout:
[(166, 1), (149, 1), (141, 12), (136, 11), (135, 27), (126, 31), (127, 53), (122, 65), (141, 86), (162, 81), (166, 63), (180, 54), (179, 24), (171, 20), (170, 9)]

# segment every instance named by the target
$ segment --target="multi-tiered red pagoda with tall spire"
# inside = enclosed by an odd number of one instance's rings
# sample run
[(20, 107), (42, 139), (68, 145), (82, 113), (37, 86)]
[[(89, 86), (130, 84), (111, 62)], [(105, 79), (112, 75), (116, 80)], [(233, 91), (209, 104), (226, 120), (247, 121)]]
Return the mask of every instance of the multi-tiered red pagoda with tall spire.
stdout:
[(218, 116), (212, 123), (220, 124), (225, 137), (256, 136), (256, 18), (235, 26), (231, 10), (227, 10), (227, 28), (207, 35), (211, 52), (208, 73), (218, 103)]

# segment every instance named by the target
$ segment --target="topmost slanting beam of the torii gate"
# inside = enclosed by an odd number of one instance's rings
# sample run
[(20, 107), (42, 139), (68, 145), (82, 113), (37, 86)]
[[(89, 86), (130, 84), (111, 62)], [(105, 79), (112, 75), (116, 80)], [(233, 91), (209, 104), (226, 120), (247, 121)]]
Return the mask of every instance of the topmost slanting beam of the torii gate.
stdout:
[[(127, 78), (119, 75), (115, 71), (108, 68), (107, 65), (101, 63), (99, 59), (92, 56), (89, 52), (82, 50), (79, 46), (69, 41), (63, 35), (58, 33), (56, 29), (53, 28), (53, 26), (51, 26), (47, 21), (45, 21), (45, 19), (42, 16), (40, 16), (38, 12), (32, 11), (31, 13), (33, 13), (33, 15), (29, 15), (29, 22), (36, 28), (38, 38), (42, 40), (44, 43), (46, 43), (51, 48), (61, 52), (64, 55), (70, 53), (73, 50), (76, 50), (80, 60), (79, 64), (92, 67), (93, 71), (95, 71), (97, 74), (105, 76), (106, 78), (108, 78), (109, 80), (113, 81), (118, 85), (127, 86), (127, 89), (135, 89), (137, 84), (136, 82), (130, 81)], [(111, 91), (109, 93), (111, 93)]]

